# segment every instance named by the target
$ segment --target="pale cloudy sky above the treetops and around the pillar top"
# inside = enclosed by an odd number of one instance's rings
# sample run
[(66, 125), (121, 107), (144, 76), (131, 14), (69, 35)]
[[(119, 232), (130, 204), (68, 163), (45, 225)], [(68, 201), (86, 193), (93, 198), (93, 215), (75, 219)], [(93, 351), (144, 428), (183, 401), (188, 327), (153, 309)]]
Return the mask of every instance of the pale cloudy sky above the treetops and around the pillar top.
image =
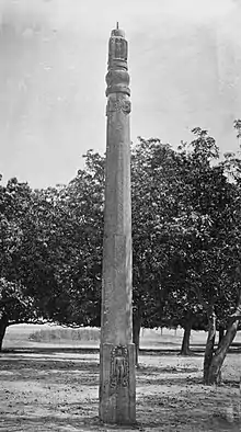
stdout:
[(129, 43), (131, 140), (199, 126), (237, 150), (241, 0), (0, 0), (0, 173), (67, 183), (105, 151), (107, 43)]

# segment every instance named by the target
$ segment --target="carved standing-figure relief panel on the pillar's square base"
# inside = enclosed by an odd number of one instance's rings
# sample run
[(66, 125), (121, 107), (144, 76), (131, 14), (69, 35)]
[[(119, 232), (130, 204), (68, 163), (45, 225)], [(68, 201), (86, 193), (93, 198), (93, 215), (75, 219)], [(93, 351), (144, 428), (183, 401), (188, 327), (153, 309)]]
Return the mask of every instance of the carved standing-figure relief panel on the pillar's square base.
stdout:
[(111, 377), (112, 393), (118, 387), (127, 387), (129, 384), (129, 361), (127, 346), (117, 345), (111, 352)]

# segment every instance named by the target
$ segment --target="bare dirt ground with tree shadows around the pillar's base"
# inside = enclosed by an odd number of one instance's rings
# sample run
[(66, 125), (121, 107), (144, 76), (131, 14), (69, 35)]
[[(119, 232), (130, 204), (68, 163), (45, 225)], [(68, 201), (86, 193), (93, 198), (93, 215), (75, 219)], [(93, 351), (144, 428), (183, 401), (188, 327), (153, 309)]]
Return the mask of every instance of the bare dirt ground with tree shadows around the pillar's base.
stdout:
[(203, 353), (140, 355), (137, 425), (101, 424), (99, 354), (33, 349), (0, 355), (0, 431), (241, 431), (240, 354), (229, 354), (220, 387), (202, 385)]

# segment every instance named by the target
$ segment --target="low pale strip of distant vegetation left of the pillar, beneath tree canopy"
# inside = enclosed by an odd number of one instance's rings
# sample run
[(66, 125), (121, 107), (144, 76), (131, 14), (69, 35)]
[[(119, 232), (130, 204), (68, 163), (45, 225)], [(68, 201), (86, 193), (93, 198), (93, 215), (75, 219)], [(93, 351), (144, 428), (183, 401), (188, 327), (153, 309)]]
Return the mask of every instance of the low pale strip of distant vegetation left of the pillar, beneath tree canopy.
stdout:
[(31, 333), (34, 342), (100, 341), (100, 329), (46, 329)]

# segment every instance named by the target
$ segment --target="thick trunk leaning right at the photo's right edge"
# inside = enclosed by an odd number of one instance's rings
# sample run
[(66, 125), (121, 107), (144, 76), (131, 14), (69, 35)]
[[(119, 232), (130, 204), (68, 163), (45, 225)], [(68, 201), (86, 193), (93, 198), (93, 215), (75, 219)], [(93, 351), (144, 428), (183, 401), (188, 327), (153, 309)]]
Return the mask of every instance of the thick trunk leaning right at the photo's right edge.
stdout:
[(239, 318), (232, 321), (223, 336), (209, 367), (208, 384), (220, 384), (221, 380), (221, 366), (227, 355), (228, 349), (231, 345), (236, 333), (238, 331)]

